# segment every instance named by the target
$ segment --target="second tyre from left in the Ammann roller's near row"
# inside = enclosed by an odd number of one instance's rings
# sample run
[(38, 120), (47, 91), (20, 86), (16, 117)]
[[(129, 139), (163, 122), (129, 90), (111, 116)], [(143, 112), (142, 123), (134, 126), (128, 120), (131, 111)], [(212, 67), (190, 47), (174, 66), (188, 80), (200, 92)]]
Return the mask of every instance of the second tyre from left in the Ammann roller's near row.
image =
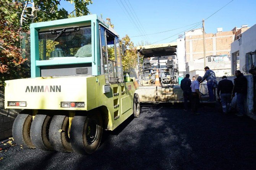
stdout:
[(49, 128), (52, 117), (44, 114), (37, 114), (31, 125), (31, 140), (34, 146), (45, 151), (53, 150), (49, 141)]

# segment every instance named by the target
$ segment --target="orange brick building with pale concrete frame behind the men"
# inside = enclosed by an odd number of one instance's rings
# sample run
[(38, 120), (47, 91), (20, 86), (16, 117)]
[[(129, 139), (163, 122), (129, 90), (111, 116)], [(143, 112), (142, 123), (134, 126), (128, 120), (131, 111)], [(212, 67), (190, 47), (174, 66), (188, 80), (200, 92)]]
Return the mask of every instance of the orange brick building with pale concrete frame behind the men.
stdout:
[[(217, 29), (216, 34), (205, 34), (206, 66), (214, 70), (217, 77), (232, 75), (230, 44), (248, 28), (235, 27), (231, 31)], [(186, 72), (204, 75), (204, 48), (202, 29), (185, 32)], [(178, 46), (179, 48), (179, 46)]]

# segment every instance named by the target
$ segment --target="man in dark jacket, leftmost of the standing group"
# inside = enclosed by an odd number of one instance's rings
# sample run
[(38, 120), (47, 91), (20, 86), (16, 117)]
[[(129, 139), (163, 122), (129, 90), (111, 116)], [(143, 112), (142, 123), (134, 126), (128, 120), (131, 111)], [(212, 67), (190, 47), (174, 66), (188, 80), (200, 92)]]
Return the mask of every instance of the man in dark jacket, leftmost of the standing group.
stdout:
[(189, 78), (190, 75), (186, 74), (186, 77), (180, 82), (180, 88), (183, 90), (184, 96), (184, 111), (188, 110), (188, 100), (191, 101), (191, 80)]

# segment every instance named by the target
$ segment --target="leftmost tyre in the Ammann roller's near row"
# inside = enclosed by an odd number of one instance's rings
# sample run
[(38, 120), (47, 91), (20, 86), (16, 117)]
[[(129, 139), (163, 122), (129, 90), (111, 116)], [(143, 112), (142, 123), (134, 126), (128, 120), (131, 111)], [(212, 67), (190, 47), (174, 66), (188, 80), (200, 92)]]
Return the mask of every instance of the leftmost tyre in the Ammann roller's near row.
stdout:
[(18, 114), (13, 122), (13, 138), (18, 145), (23, 148), (36, 148), (30, 138), (30, 128), (32, 123), (32, 115)]

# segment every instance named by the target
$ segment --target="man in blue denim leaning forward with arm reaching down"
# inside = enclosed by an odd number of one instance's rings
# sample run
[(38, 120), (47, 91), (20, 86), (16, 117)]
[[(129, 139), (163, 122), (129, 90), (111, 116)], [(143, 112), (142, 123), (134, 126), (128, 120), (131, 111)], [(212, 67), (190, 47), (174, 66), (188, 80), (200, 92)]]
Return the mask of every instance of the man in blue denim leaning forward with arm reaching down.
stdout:
[(217, 84), (217, 80), (214, 71), (210, 70), (209, 67), (204, 67), (204, 70), (206, 72), (200, 83), (202, 83), (205, 79), (207, 80), (207, 88), (210, 98), (208, 101), (212, 102), (214, 101), (213, 87), (215, 84)]

